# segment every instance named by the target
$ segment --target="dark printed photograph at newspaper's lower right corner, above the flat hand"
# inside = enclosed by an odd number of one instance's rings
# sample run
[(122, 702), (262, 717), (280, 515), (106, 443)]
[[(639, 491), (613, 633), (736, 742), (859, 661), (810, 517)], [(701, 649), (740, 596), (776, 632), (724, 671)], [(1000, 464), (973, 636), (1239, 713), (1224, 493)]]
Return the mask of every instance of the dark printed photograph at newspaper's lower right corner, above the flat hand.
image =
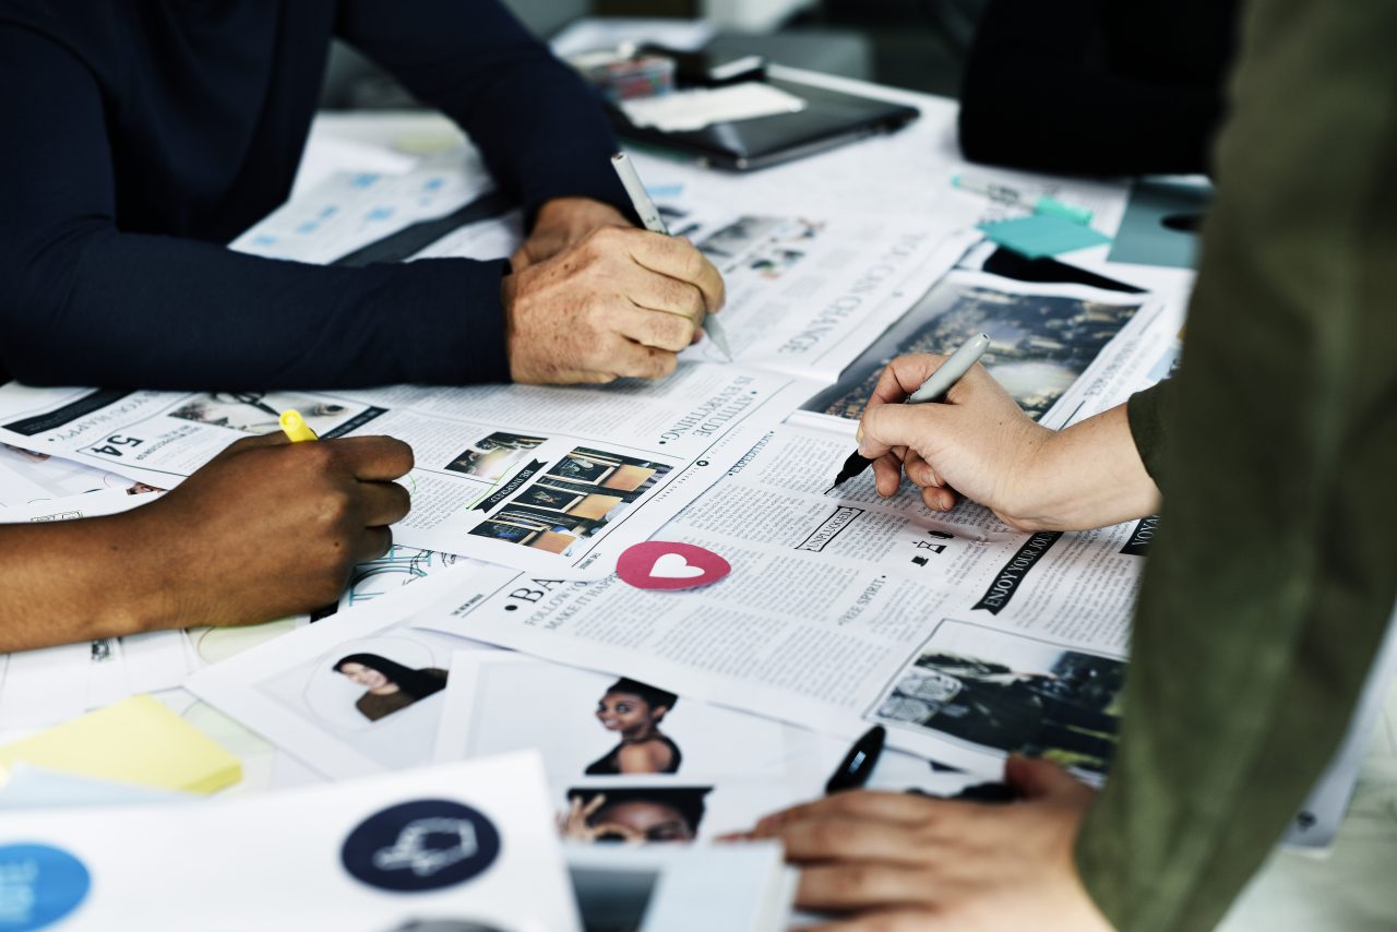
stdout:
[(1125, 672), (1111, 657), (943, 622), (872, 718), (1101, 777), (1115, 756)]

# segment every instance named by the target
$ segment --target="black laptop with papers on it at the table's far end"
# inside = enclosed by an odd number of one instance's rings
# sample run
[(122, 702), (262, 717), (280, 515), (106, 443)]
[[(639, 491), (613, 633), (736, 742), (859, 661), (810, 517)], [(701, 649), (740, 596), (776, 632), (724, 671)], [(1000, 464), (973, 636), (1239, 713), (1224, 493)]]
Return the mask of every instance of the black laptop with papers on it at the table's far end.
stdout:
[(841, 94), (796, 81), (770, 78), (767, 82), (802, 98), (805, 109), (736, 123), (714, 123), (683, 133), (637, 127), (619, 108), (609, 106), (608, 110), (616, 131), (626, 140), (675, 150), (735, 172), (780, 165), (865, 136), (891, 133), (918, 117), (916, 108), (902, 103)]

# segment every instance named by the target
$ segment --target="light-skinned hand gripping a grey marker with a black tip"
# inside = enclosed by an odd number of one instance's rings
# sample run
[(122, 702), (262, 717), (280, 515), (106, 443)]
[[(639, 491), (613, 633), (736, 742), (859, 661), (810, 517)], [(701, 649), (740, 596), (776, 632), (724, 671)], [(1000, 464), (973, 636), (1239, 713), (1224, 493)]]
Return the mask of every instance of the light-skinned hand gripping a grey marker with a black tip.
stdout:
[(916, 354), (887, 365), (859, 423), (859, 453), (875, 460), (879, 495), (895, 495), (905, 471), (933, 511), (954, 507), (960, 492), (1018, 527), (1024, 486), (1038, 479), (1034, 463), (1053, 432), (1034, 423), (978, 363), (946, 404), (901, 404), (944, 362)]

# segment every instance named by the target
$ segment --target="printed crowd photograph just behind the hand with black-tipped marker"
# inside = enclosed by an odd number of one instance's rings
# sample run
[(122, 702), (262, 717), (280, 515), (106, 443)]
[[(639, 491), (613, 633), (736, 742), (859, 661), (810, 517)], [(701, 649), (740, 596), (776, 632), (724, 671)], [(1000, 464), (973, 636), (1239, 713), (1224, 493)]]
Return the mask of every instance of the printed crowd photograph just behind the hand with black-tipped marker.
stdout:
[(981, 362), (1037, 421), (1139, 309), (1136, 303), (995, 291), (957, 281), (953, 274), (803, 408), (858, 421), (873, 397), (879, 374), (895, 356), (949, 355), (970, 335), (986, 333), (992, 342)]

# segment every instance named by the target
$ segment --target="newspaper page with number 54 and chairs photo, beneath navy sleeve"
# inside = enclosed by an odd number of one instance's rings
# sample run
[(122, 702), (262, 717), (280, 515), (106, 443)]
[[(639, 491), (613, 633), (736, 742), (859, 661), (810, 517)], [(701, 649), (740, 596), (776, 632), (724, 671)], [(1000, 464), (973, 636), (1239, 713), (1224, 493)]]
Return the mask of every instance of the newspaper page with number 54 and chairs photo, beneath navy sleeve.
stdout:
[(324, 393), (0, 387), (0, 440), (177, 485), (296, 408), (321, 437), (412, 446), (409, 546), (538, 571), (604, 576), (693, 502), (817, 386), (683, 365), (664, 383), (602, 387), (397, 386)]

